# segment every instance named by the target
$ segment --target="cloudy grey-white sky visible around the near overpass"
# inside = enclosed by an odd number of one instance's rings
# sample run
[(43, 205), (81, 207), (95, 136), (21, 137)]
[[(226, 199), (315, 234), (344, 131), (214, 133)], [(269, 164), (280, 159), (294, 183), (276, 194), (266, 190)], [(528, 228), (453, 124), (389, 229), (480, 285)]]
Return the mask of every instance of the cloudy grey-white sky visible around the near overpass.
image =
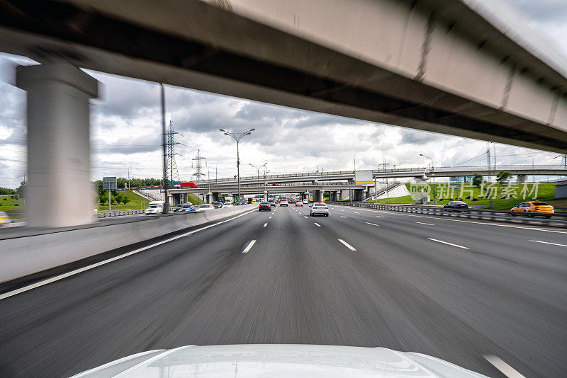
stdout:
[[(565, 0), (507, 0), (528, 25), (567, 56)], [(10, 83), (24, 57), (0, 55), (0, 186), (16, 188), (26, 170), (26, 93)], [(161, 176), (159, 85), (88, 71), (104, 84), (103, 96), (91, 101), (92, 178)], [(179, 175), (189, 181), (196, 172), (192, 158), (200, 149), (210, 178), (236, 174), (235, 143), (218, 131), (250, 128), (242, 139), (241, 174), (256, 174), (249, 164), (268, 163), (270, 173), (376, 168), (386, 159), (397, 167), (485, 164), (486, 143), (461, 137), (350, 120), (303, 110), (266, 105), (228, 96), (166, 87), (167, 120), (176, 135)], [(558, 164), (557, 154), (495, 144), (498, 164)], [(478, 156), (478, 157), (477, 157)]]

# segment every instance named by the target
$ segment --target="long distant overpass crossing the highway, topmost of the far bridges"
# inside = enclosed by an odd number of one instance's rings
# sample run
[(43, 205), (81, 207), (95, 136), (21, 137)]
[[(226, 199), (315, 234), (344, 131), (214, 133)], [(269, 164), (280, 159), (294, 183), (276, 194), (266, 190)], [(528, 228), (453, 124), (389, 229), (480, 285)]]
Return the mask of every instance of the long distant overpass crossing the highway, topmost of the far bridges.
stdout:
[[(483, 176), (495, 176), (500, 171), (508, 171), (514, 176), (567, 176), (567, 168), (563, 166), (497, 166), (488, 168), (487, 166), (462, 166), (462, 167), (434, 167), (430, 170), (427, 167), (420, 168), (395, 168), (395, 169), (374, 169), (374, 178), (430, 178), (453, 177), (453, 176), (473, 176), (474, 173), (481, 173)], [(254, 185), (258, 181), (264, 183), (264, 176), (245, 176), (240, 177), (242, 185)], [(328, 172), (307, 172), (307, 173), (285, 173), (279, 175), (267, 175), (266, 184), (281, 183), (308, 183), (313, 181), (354, 181), (354, 171), (328, 171)], [(205, 186), (208, 183), (215, 186), (235, 185), (234, 178), (218, 178), (217, 180), (198, 181), (198, 185)]]

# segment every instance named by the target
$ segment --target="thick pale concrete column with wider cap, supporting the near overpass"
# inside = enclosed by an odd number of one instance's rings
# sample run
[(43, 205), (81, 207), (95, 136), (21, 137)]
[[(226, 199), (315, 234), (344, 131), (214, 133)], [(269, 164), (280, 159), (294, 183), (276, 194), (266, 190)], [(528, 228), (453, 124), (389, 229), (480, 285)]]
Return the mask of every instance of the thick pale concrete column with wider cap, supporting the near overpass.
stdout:
[(28, 92), (28, 226), (90, 223), (89, 98), (99, 81), (58, 62), (18, 67), (16, 84)]

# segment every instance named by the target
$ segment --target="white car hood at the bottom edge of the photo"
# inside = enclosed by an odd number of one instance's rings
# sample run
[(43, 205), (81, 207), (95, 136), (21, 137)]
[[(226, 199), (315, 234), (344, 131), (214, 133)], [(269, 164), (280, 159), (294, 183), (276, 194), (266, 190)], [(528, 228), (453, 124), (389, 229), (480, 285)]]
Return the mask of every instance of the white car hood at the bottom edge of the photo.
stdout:
[(333, 345), (210, 345), (150, 350), (74, 378), (485, 377), (435, 357)]

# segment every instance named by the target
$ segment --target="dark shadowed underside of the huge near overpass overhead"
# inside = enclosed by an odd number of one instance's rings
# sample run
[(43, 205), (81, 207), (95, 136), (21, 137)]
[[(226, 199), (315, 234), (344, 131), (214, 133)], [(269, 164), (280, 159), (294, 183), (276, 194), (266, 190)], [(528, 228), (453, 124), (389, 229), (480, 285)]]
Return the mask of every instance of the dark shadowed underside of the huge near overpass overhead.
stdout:
[[(547, 114), (541, 121), (445, 91), (427, 82), (423, 64), (423, 77), (408, 77), (401, 74), (403, 69), (388, 69), (324, 47), (313, 42), (315, 37), (286, 33), (274, 27), (276, 22), (266, 25), (245, 18), (237, 14), (238, 6), (232, 9), (228, 2), (224, 9), (195, 0), (164, 1), (159, 8), (153, 4), (140, 0), (133, 9), (116, 1), (0, 1), (0, 50), (39, 62), (55, 57), (86, 69), (349, 118), (567, 151), (565, 125), (549, 124)], [(427, 21), (432, 11), (421, 3), (415, 8), (405, 7), (409, 2), (400, 4), (404, 6), (399, 12), (409, 12), (416, 25), (421, 25), (421, 18)], [(353, 11), (361, 7), (361, 3), (351, 5)], [(303, 22), (309, 23), (309, 16), (313, 15), (305, 12)], [(468, 10), (467, 16), (474, 13)], [(437, 22), (436, 30), (441, 30), (442, 17)], [(424, 38), (423, 30), (415, 33)], [(422, 42), (407, 42), (419, 55)], [(434, 40), (431, 43), (434, 47)], [(557, 82), (561, 77), (551, 72), (541, 80), (549, 86), (549, 80)], [(514, 88), (503, 95), (510, 96), (510, 102)], [(553, 88), (547, 90), (551, 91), (549, 111), (555, 122), (562, 122), (565, 101)]]

